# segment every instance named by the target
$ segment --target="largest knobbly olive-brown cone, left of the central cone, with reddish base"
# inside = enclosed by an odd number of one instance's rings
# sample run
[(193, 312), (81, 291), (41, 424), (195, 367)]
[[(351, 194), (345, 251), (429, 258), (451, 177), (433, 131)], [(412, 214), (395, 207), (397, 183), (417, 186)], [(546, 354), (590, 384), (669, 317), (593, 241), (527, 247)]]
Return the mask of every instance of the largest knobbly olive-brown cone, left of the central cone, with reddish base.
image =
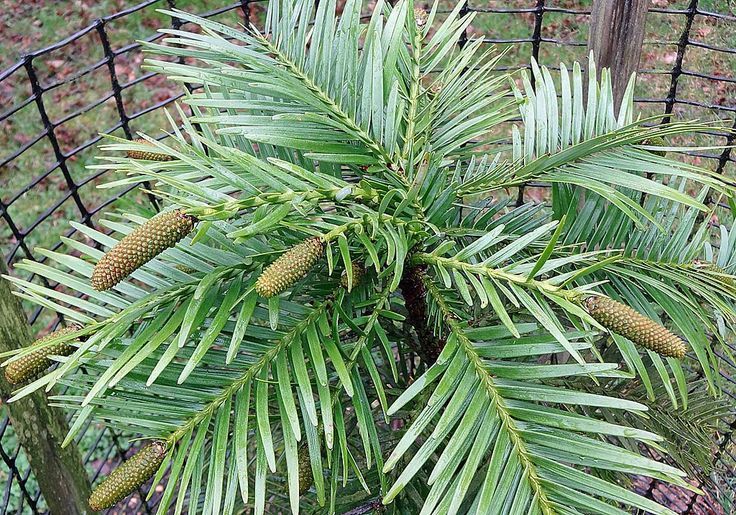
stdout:
[(192, 232), (196, 219), (181, 210), (155, 216), (120, 240), (102, 256), (92, 272), (92, 287), (112, 288), (138, 268)]

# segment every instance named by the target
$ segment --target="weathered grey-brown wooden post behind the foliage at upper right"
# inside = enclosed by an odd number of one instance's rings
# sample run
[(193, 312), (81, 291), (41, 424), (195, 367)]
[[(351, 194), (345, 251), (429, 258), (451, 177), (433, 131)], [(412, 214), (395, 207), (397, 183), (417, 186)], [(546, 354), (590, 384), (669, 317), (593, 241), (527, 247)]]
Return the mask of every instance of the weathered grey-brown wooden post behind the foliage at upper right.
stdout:
[(616, 109), (639, 66), (649, 0), (593, 0), (588, 50), (598, 70), (610, 68)]

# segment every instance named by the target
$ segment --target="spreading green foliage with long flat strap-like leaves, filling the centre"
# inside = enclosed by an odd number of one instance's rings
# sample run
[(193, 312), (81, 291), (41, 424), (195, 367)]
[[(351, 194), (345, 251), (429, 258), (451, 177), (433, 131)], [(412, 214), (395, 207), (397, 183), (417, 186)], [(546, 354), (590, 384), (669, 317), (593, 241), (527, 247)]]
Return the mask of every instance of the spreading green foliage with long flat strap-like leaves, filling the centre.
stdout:
[[(461, 8), (379, 2), (364, 23), (355, 0), (340, 17), (334, 0), (277, 0), (263, 33), (177, 11), (201, 30), (164, 30), (149, 50), (175, 59), (147, 66), (202, 87), (169, 139), (144, 135), (172, 159), (113, 140), (99, 166), (197, 227), (108, 291), (89, 283), (98, 247), (146, 218), (74, 224), (89, 243), (19, 264), (65, 288), (12, 279), (18, 294), (82, 328), (16, 397), (68, 385), (53, 398), (76, 412), (68, 441), (97, 419), (166, 442), (161, 513), (670, 513), (616, 481), (687, 486), (640, 452), (667, 448), (638, 424), (647, 406), (587, 390), (638, 377), (685, 409), (683, 365), (617, 334), (601, 349), (584, 300), (683, 335), (717, 393), (736, 253), (698, 214), (734, 188), (648, 144), (710, 126), (637, 119), (632, 87), (614, 113), (608, 73), (584, 97), (577, 64), (559, 97), (536, 63), (517, 88), (495, 49), (458, 45)], [(505, 200), (540, 182), (549, 205)]]

